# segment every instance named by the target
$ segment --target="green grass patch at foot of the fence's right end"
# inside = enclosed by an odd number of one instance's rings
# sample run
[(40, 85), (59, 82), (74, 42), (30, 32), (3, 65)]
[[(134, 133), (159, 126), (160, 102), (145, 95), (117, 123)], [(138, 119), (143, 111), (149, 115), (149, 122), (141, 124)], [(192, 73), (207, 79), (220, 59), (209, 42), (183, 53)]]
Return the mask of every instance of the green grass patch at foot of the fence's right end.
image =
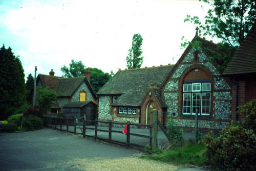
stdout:
[(144, 155), (142, 158), (152, 159), (172, 164), (193, 164), (203, 165), (205, 158), (202, 156), (205, 151), (204, 144), (188, 143), (181, 148), (173, 148), (172, 150), (165, 150), (160, 155)]

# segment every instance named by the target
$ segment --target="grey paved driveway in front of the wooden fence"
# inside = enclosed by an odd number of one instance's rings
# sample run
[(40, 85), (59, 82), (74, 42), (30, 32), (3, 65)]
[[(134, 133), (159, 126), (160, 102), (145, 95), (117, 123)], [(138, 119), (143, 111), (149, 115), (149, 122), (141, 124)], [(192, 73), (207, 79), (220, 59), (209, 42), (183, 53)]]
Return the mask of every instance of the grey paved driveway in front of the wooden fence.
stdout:
[(74, 160), (79, 158), (101, 160), (130, 157), (141, 153), (48, 128), (0, 134), (0, 144), (0, 170), (46, 170), (47, 167), (68, 165), (69, 161), (74, 163)]

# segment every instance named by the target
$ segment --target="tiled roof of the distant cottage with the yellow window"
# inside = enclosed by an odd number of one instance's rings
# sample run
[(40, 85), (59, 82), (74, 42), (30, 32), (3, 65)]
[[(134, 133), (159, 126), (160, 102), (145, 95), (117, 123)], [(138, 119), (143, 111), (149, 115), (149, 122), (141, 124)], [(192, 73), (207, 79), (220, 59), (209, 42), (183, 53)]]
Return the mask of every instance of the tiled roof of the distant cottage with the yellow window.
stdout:
[(63, 78), (56, 76), (49, 76), (38, 74), (37, 82), (41, 80), (42, 86), (48, 87), (49, 89), (54, 89), (58, 96), (70, 97), (77, 90), (77, 88), (85, 82), (91, 91), (93, 97), (96, 98), (96, 94), (93, 91), (90, 83), (87, 81), (86, 77), (74, 77), (74, 78)]

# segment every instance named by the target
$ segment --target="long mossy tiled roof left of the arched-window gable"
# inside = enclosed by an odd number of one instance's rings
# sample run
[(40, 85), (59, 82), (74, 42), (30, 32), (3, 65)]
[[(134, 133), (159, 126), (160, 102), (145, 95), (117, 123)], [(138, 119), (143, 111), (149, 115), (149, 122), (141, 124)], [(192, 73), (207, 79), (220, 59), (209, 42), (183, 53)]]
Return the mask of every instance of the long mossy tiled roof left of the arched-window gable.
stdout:
[(173, 66), (119, 70), (97, 94), (122, 94), (113, 106), (140, 106), (150, 85), (161, 85)]

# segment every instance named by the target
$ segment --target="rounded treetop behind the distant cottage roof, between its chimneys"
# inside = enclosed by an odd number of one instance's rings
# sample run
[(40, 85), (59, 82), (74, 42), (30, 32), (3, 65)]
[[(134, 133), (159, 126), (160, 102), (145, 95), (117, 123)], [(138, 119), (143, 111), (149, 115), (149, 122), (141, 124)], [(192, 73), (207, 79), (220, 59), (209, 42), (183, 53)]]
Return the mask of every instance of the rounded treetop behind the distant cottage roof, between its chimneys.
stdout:
[(69, 68), (64, 65), (60, 68), (60, 70), (63, 72), (63, 77), (71, 78), (71, 77), (81, 77), (83, 76), (83, 71), (86, 70), (86, 66), (83, 65), (81, 61), (74, 61), (74, 59), (71, 60), (71, 63), (69, 64)]

